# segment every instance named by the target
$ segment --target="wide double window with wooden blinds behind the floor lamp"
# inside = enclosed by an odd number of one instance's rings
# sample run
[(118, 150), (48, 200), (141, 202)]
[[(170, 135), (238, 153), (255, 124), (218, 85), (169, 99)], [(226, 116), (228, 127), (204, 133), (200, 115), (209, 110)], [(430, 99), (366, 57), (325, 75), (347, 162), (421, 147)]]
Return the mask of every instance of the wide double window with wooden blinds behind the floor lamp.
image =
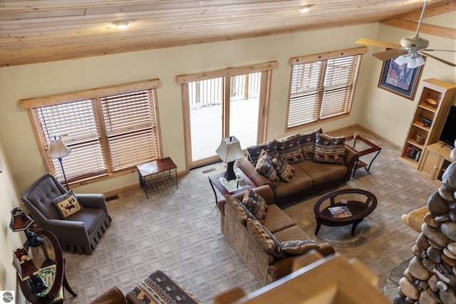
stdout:
[[(48, 172), (63, 179), (58, 159), (46, 157), (50, 138), (71, 149), (63, 165), (68, 182), (120, 172), (160, 158), (155, 87), (150, 80), (36, 100), (21, 100), (31, 111), (38, 146)], [(82, 98), (82, 99), (80, 99)]]

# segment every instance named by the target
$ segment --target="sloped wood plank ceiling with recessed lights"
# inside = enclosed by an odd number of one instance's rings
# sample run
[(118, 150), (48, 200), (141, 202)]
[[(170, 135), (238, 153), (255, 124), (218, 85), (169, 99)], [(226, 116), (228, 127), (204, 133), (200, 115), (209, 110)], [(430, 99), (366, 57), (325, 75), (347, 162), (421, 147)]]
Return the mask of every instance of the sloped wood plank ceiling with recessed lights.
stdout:
[[(426, 17), (455, 3), (432, 0)], [(422, 7), (423, 0), (0, 0), (0, 67), (373, 22), (414, 31)], [(127, 29), (113, 25), (125, 20), (133, 21)], [(455, 31), (421, 28), (452, 39)]]

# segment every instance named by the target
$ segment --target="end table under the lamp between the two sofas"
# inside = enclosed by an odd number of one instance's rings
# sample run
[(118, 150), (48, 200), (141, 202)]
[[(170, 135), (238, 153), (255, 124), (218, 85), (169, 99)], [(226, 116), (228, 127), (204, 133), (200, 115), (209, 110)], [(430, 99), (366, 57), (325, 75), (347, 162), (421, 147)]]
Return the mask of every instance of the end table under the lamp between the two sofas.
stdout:
[(257, 184), (255, 184), (252, 179), (249, 179), (244, 172), (242, 172), (239, 168), (234, 168), (234, 173), (237, 176), (237, 179), (234, 179), (230, 182), (226, 182), (224, 180), (225, 172), (214, 174), (209, 177), (209, 184), (211, 184), (212, 191), (214, 192), (215, 196), (215, 204), (217, 204), (217, 189), (220, 194), (224, 197), (225, 195), (233, 195), (242, 192), (246, 192), (249, 188), (257, 188)]

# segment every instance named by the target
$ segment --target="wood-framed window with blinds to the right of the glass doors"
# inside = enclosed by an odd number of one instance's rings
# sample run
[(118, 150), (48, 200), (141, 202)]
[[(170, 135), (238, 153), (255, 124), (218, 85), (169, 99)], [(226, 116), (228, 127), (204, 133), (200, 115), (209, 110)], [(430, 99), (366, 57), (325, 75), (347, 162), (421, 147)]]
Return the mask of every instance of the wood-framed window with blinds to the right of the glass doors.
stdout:
[(287, 129), (348, 115), (366, 51), (363, 47), (291, 58)]

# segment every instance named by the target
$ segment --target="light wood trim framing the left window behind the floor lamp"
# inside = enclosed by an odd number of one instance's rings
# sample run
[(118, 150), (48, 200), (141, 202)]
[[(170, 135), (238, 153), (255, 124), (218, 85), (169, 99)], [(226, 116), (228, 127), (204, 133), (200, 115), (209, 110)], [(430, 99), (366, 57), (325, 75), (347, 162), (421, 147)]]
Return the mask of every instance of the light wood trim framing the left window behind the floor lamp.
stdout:
[[(135, 92), (140, 90), (150, 90), (152, 94), (152, 98), (155, 101), (154, 103), (154, 111), (155, 111), (155, 123), (157, 128), (157, 148), (159, 155), (162, 155), (162, 145), (161, 145), (161, 132), (160, 132), (160, 117), (158, 115), (158, 103), (157, 103), (157, 91), (156, 89), (161, 85), (161, 80), (158, 78), (152, 80), (145, 80), (140, 81), (138, 83), (129, 83), (125, 85), (115, 85), (110, 87), (104, 88), (94, 88), (92, 90), (83, 90), (75, 93), (65, 93), (61, 95), (52, 95), (46, 96), (43, 98), (27, 98), (23, 100), (19, 100), (19, 107), (23, 110), (27, 110), (28, 117), (31, 121), (31, 127), (33, 129), (33, 134), (35, 135), (36, 144), (38, 145), (38, 150), (41, 154), (41, 159), (43, 161), (44, 167), (46, 172), (51, 172), (51, 168), (48, 165), (48, 157), (46, 155), (46, 151), (44, 150), (43, 146), (41, 145), (41, 136), (39, 135), (39, 130), (36, 127), (36, 120), (33, 115), (33, 109), (47, 107), (51, 105), (59, 105), (63, 103), (73, 103), (78, 100), (93, 100), (99, 99), (100, 97), (105, 97), (108, 95), (121, 95), (129, 92)], [(97, 110), (95, 115), (98, 114), (99, 111)], [(97, 117), (98, 119), (98, 117)], [(103, 132), (100, 132), (100, 136), (104, 137), (105, 135)], [(109, 167), (110, 165), (107, 164)], [(119, 169), (115, 172), (108, 172), (104, 174), (99, 174), (97, 176), (89, 176), (83, 179), (78, 179), (77, 181), (71, 182), (73, 185), (83, 185), (88, 184), (90, 182), (96, 182), (103, 179), (109, 179), (111, 177), (118, 177), (124, 174), (130, 174), (131, 172), (135, 172), (135, 168), (128, 167), (125, 169)]]

